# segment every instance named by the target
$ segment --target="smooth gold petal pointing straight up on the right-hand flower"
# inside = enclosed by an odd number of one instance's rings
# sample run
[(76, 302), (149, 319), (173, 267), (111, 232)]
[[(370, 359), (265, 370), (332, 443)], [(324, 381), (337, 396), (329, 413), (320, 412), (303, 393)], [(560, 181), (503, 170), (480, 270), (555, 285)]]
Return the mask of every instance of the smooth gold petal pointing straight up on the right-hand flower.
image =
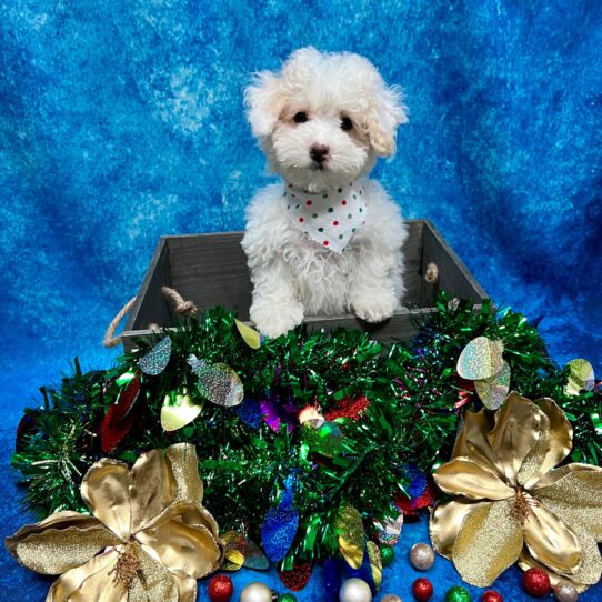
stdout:
[(542, 437), (545, 414), (532, 401), (515, 392), (495, 413), (495, 427), (488, 441), (503, 466), (505, 481), (515, 485), (525, 458)]

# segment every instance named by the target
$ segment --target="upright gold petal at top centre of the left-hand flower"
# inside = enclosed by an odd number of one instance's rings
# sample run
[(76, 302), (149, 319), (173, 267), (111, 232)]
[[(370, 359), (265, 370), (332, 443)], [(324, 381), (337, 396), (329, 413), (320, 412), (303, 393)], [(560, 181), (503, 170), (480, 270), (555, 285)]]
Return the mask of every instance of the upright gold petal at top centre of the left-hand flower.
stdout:
[(165, 510), (175, 494), (175, 479), (163, 450), (142, 454), (130, 473), (130, 532), (137, 533)]

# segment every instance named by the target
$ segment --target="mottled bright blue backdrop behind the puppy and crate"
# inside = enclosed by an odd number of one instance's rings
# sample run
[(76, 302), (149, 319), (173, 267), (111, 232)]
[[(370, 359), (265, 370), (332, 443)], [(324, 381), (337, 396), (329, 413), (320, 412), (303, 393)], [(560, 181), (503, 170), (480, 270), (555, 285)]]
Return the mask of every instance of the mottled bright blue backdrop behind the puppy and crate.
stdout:
[[(552, 355), (602, 372), (602, 3), (599, 0), (6, 0), (0, 13), (0, 462), (20, 410), (100, 339), (161, 234), (235, 230), (263, 158), (248, 73), (314, 44), (402, 84), (410, 124), (378, 167), (404, 214), (430, 218)], [(21, 513), (3, 480), (0, 531)], [(410, 599), (408, 526), (384, 591)], [(1, 555), (6, 599), (48, 580)], [(237, 575), (237, 584), (253, 574)], [(261, 576), (261, 575), (260, 575)], [(438, 559), (435, 600), (459, 583)], [(278, 581), (270, 578), (275, 585)], [(506, 600), (519, 572), (499, 584)], [(201, 592), (204, 592), (201, 585)], [(320, 600), (317, 575), (300, 600)], [(200, 598), (204, 599), (201, 593)], [(591, 591), (583, 600), (599, 600)]]

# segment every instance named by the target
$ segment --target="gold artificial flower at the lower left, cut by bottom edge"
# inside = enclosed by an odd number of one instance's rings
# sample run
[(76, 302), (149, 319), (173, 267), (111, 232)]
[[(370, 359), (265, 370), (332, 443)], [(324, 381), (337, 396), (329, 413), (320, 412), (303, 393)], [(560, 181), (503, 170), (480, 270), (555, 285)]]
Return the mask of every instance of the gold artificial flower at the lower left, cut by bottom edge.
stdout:
[(127, 464), (103, 459), (81, 484), (93, 516), (58, 512), (20, 529), (7, 546), (21, 564), (61, 574), (47, 602), (193, 602), (197, 579), (221, 560), (218, 524), (201, 505), (194, 445)]

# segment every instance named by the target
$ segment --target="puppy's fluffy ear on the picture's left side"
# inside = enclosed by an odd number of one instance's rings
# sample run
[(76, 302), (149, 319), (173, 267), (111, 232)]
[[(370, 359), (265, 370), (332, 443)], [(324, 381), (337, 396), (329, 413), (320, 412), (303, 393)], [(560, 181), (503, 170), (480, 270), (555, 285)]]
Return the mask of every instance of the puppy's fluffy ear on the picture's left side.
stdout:
[(253, 79), (253, 83), (244, 90), (247, 118), (253, 136), (265, 138), (272, 133), (284, 108), (281, 79), (270, 71), (255, 73)]

